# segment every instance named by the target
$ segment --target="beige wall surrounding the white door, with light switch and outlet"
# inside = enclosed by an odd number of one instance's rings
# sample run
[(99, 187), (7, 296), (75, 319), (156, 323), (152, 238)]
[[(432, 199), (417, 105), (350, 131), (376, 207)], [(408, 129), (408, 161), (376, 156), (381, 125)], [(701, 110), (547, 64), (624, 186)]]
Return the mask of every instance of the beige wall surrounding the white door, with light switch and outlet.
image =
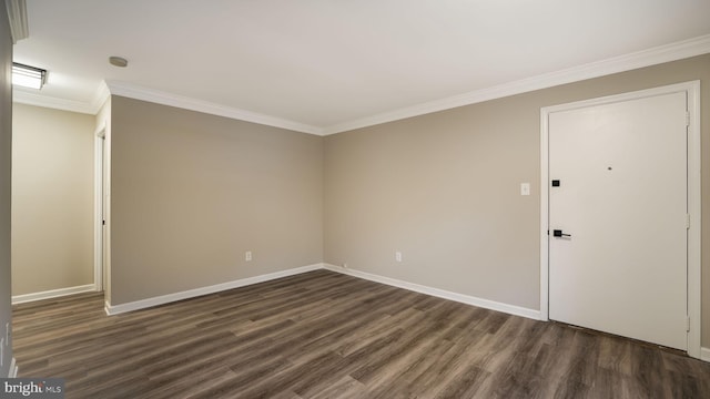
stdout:
[[(692, 80), (710, 248), (707, 54), (325, 137), (325, 262), (537, 310), (540, 108)], [(710, 347), (710, 250), (702, 275)]]

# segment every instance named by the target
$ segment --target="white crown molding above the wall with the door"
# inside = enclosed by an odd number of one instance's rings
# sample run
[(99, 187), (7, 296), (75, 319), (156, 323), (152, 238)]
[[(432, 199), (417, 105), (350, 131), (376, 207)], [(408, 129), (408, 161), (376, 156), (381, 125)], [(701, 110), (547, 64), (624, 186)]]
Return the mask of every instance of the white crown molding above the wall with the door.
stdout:
[(323, 135), (347, 132), (407, 117), (445, 111), (458, 106), (470, 105), (484, 101), (521, 94), (534, 90), (547, 89), (560, 84), (572, 83), (591, 78), (677, 61), (690, 57), (710, 53), (710, 34), (680, 42), (656, 47), (602, 61), (579, 66), (544, 73), (537, 76), (504, 83), (496, 86), (476, 90), (446, 99), (435, 100), (413, 106), (403, 108), (373, 116), (325, 126)]

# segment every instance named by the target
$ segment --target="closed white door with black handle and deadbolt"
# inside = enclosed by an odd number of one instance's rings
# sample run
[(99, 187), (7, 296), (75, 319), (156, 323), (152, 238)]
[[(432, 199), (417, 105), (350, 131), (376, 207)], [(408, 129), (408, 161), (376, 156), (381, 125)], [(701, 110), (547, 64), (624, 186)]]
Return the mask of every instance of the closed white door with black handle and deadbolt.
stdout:
[(686, 350), (687, 93), (548, 124), (549, 318)]

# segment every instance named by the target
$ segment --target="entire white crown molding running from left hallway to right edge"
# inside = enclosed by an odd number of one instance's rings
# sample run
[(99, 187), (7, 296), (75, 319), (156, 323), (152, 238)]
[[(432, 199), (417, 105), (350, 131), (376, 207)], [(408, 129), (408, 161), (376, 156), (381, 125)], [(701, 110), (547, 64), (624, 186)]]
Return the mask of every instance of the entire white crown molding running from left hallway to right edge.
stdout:
[(97, 114), (106, 99), (111, 94), (115, 94), (296, 132), (328, 135), (707, 53), (710, 53), (710, 34), (325, 127), (150, 90), (119, 81), (101, 82), (90, 102), (51, 98), (21, 90), (13, 91), (13, 101), (29, 105)]

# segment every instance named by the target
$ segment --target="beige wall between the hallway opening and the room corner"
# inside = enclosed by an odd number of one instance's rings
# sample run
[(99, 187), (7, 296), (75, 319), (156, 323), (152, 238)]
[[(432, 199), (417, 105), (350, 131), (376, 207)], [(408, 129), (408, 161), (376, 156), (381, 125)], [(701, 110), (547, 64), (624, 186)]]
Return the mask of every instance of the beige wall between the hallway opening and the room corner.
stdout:
[(111, 101), (111, 305), (322, 262), (322, 137)]

